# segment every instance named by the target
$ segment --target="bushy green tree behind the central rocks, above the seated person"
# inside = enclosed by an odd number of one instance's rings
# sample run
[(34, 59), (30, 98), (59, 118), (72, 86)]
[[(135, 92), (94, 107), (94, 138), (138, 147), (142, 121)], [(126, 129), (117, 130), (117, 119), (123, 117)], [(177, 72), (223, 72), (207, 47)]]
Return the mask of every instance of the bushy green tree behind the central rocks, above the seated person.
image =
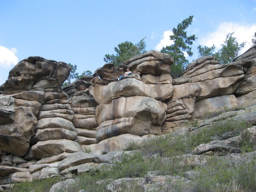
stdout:
[(113, 63), (115, 66), (118, 66), (119, 64), (122, 64), (124, 61), (143, 54), (146, 52), (146, 43), (145, 38), (141, 39), (139, 43), (133, 44), (129, 41), (125, 41), (121, 44), (119, 44), (117, 47), (115, 47), (116, 55), (109, 55), (106, 54), (104, 57), (104, 61), (106, 63)]

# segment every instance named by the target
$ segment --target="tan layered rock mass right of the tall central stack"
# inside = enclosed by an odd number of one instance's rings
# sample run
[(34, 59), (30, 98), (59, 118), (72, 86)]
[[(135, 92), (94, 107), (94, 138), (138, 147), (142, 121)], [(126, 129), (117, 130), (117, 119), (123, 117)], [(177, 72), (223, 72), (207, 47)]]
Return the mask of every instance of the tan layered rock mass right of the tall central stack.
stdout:
[(209, 113), (255, 105), (255, 58), (256, 45), (229, 64), (220, 64), (214, 57), (193, 61), (173, 81), (174, 91), (166, 102), (164, 132), (183, 127), (186, 119), (201, 119)]

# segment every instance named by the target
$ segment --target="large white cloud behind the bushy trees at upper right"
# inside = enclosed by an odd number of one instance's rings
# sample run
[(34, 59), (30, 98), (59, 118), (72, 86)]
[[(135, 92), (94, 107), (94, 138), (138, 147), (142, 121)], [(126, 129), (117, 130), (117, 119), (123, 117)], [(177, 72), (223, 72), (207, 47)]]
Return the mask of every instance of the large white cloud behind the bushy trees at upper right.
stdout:
[(221, 23), (215, 32), (206, 35), (204, 38), (198, 39), (200, 45), (211, 47), (215, 45), (216, 50), (221, 48), (221, 44), (224, 44), (228, 33), (232, 33), (233, 37), (237, 38), (239, 43), (246, 42), (245, 47), (241, 50), (241, 53), (245, 52), (252, 46), (252, 38), (256, 32), (256, 25), (241, 25), (239, 23)]

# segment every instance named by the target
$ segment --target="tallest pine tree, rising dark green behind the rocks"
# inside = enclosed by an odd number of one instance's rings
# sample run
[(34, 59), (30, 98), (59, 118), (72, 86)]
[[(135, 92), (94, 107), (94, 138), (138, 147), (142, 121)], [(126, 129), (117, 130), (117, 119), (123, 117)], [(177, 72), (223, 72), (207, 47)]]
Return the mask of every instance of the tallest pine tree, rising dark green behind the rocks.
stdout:
[(172, 29), (173, 35), (170, 35), (170, 40), (174, 41), (174, 44), (163, 47), (160, 51), (172, 55), (172, 58), (175, 61), (171, 70), (173, 78), (179, 77), (189, 64), (184, 53), (190, 57), (193, 55), (191, 45), (197, 38), (195, 35), (187, 36), (187, 32), (185, 31), (185, 29), (192, 23), (193, 17), (194, 16), (189, 16), (179, 23), (177, 28)]

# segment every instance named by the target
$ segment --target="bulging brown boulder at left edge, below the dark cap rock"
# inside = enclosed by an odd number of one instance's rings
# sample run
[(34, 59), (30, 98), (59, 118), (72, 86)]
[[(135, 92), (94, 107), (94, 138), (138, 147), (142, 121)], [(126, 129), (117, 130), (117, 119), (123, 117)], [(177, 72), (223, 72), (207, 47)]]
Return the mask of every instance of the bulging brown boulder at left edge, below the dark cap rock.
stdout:
[[(24, 101), (24, 100), (23, 100)], [(21, 106), (19, 106), (21, 103)], [(0, 96), (0, 150), (23, 156), (29, 148), (37, 124), (38, 102), (20, 102), (8, 96)], [(26, 106), (22, 106), (26, 105)]]

